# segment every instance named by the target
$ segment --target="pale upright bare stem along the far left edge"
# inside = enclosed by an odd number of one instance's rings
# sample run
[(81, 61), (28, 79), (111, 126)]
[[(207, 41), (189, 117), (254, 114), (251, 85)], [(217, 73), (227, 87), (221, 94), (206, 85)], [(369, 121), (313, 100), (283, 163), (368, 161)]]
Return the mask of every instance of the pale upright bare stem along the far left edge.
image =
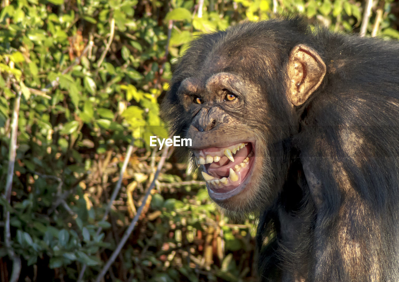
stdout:
[[(21, 96), (22, 96), (22, 91), (18, 91), (14, 102), (14, 111), (12, 112), (7, 182), (6, 182), (6, 191), (3, 195), (4, 199), (6, 199), (8, 203), (11, 203), (12, 179), (14, 177), (14, 165), (15, 165), (15, 156), (17, 150), (17, 134), (18, 134), (18, 118), (19, 118), (18, 114), (20, 112)], [(18, 281), (21, 272), (21, 259), (18, 256), (16, 256), (14, 249), (11, 246), (10, 211), (8, 211), (6, 205), (4, 205), (3, 214), (5, 214), (6, 216), (5, 226), (4, 226), (4, 245), (6, 246), (8, 256), (10, 257), (10, 259), (12, 259), (12, 274), (10, 282), (16, 282)]]

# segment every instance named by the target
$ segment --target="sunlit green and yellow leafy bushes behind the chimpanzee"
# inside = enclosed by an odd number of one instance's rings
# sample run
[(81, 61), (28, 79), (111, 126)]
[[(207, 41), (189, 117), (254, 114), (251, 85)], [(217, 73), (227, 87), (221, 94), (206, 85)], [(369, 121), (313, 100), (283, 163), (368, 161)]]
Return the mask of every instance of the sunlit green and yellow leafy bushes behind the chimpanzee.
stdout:
[(159, 102), (172, 64), (194, 36), (273, 12), (398, 39), (397, 2), (375, 1), (364, 20), (366, 4), (2, 0), (0, 282), (256, 281), (254, 220), (219, 214), (186, 164), (168, 158), (143, 198), (161, 153), (145, 141), (166, 136)]

